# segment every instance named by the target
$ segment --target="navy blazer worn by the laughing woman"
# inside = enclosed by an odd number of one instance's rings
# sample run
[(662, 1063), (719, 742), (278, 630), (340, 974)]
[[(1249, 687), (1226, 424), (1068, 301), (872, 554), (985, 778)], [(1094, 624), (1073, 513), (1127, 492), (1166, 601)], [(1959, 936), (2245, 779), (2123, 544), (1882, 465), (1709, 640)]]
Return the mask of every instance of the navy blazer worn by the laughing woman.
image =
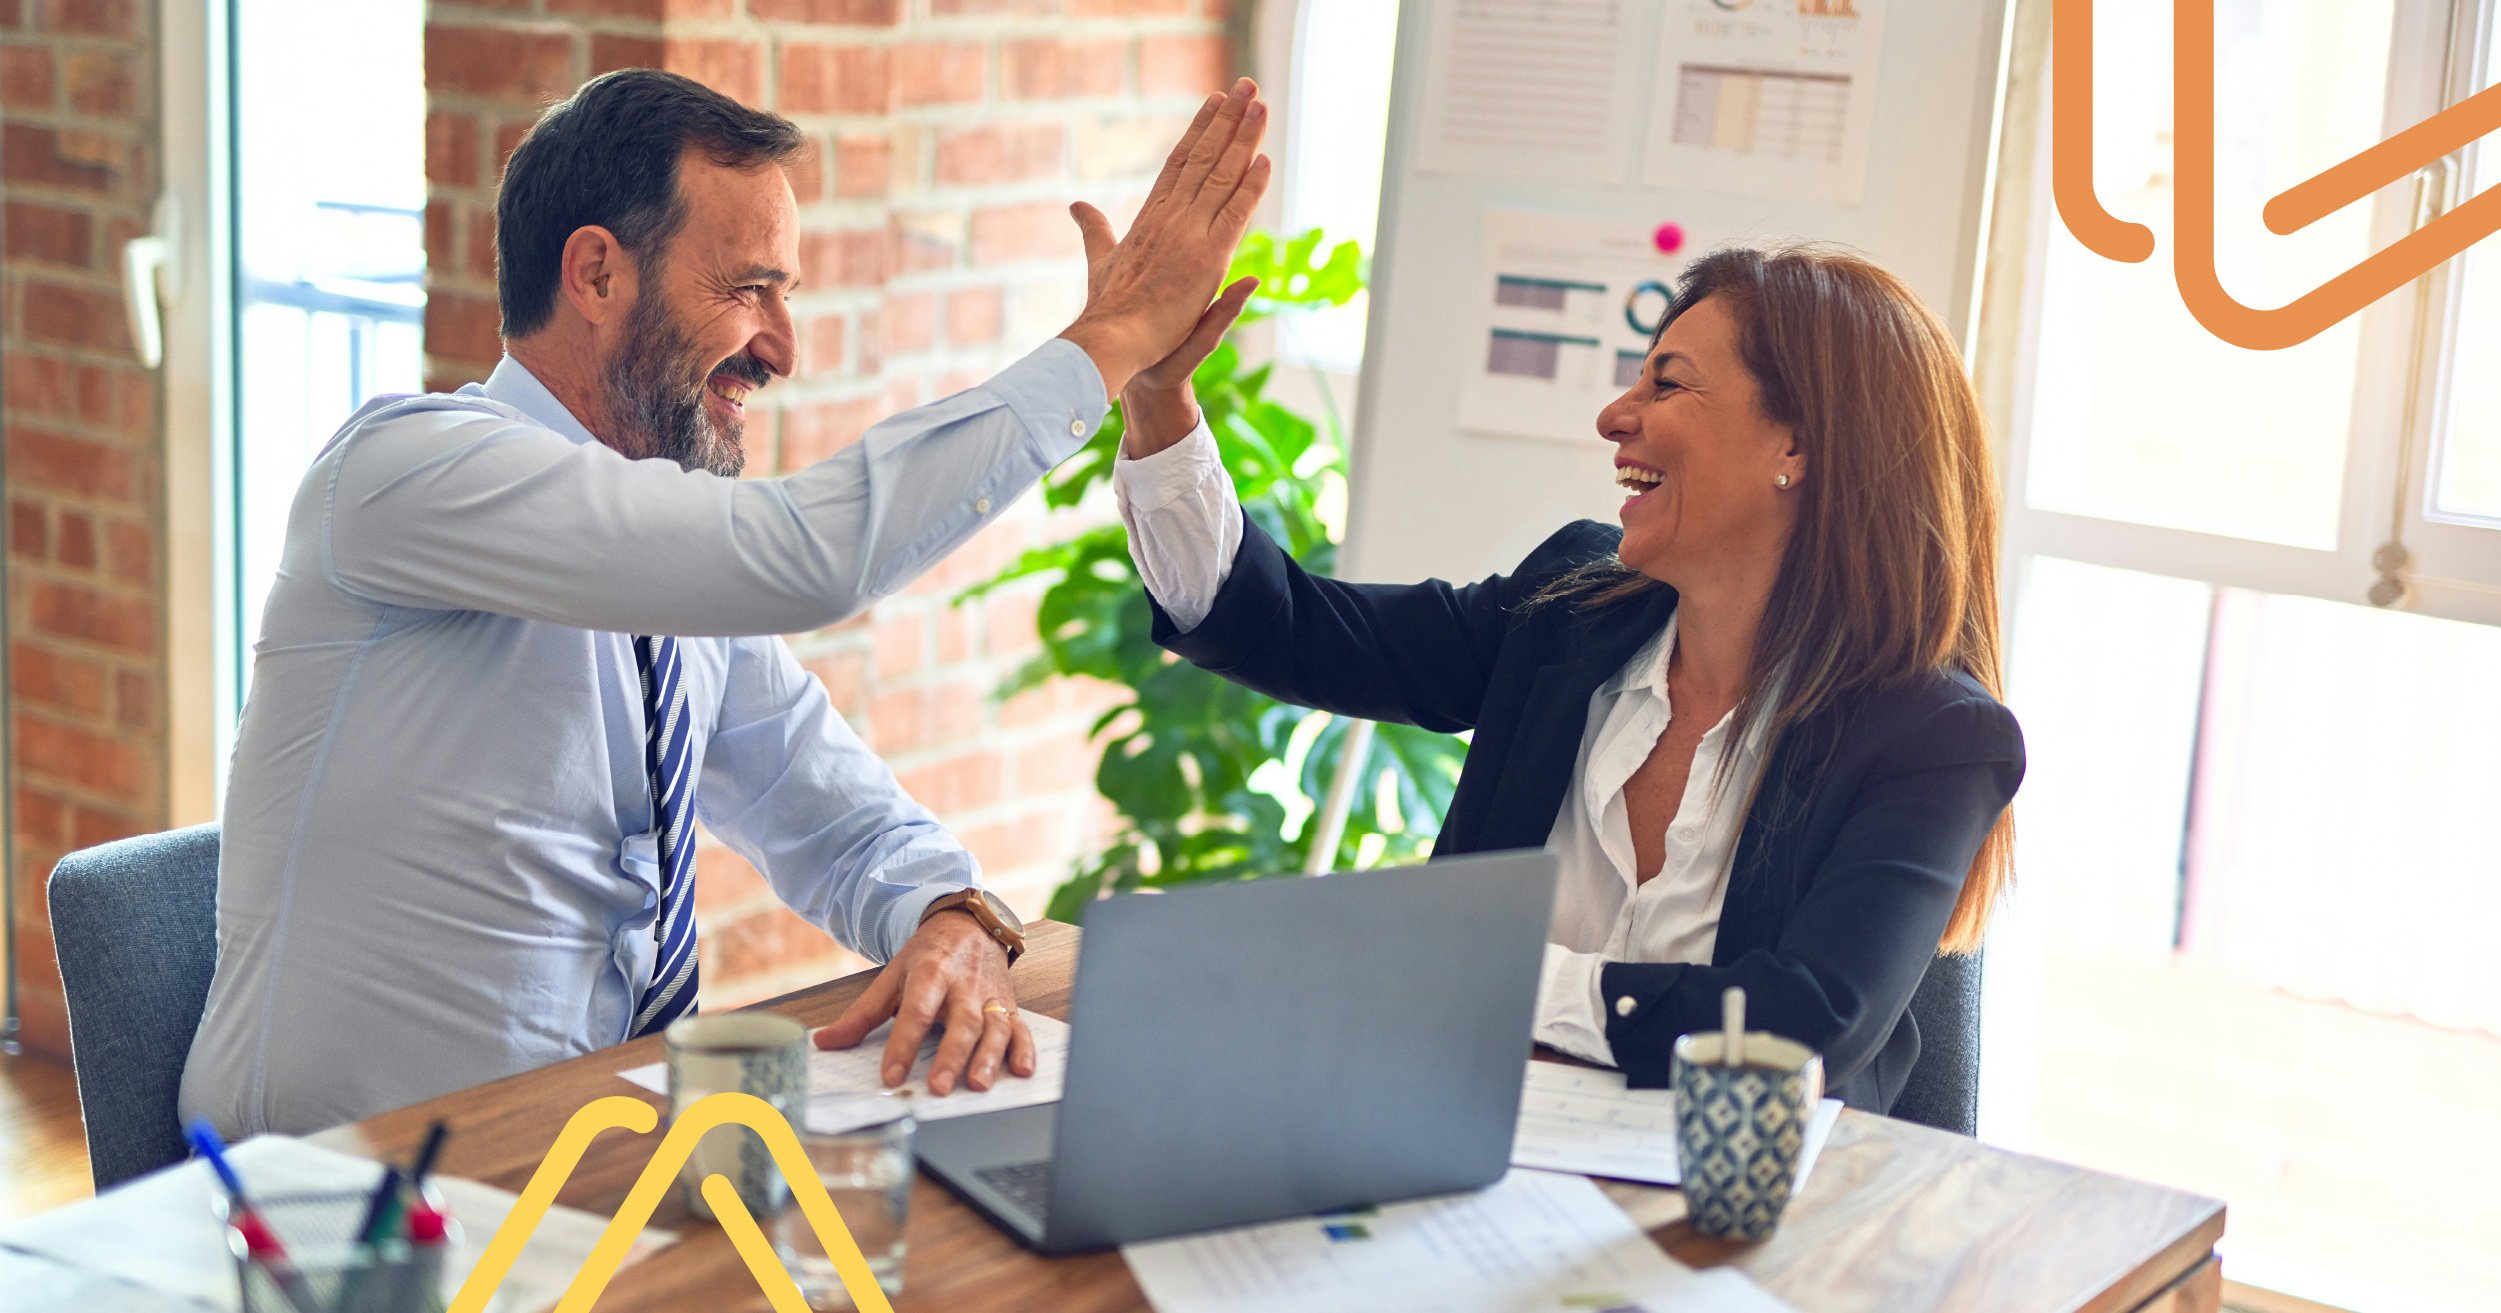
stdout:
[[(1306, 573), (1245, 518), (1215, 608), (1180, 633), (1158, 605), (1155, 643), (1283, 703), (1476, 730), (1433, 855), (1543, 848), (1591, 693), (1658, 635), (1676, 593), (1521, 603), (1618, 538), (1578, 520), (1511, 575), (1353, 585)], [(1786, 730), (1746, 813), (1711, 965), (1601, 968), (1616, 1065), (1633, 1085), (1668, 1085), (1676, 1035), (1718, 1030), (1721, 990), (1746, 985), (1748, 1030), (1813, 1045), (1831, 1095), (1891, 1110), (1918, 1060), (1911, 990), (2021, 780), (2013, 713), (1961, 673), (1846, 698)]]

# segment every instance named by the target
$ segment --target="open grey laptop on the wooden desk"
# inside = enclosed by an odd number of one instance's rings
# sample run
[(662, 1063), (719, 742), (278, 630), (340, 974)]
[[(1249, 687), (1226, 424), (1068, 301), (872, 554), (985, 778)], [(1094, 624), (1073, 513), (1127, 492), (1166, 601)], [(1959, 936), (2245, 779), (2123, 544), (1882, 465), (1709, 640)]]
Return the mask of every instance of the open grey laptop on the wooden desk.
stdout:
[(1488, 1185), (1553, 898), (1523, 850), (1095, 903), (1060, 1103), (923, 1123), (920, 1168), (1040, 1253)]

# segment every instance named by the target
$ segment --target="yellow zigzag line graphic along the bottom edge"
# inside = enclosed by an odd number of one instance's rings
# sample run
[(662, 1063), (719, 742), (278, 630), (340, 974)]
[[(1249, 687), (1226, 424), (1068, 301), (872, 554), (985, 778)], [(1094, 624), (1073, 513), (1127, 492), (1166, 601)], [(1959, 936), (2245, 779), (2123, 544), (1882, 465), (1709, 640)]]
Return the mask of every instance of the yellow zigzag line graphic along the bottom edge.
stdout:
[[(530, 1185), (520, 1190), (520, 1200), (513, 1203), (503, 1225), (495, 1228), (495, 1238), (485, 1245), (485, 1255), (478, 1258), (478, 1268), (460, 1283), (450, 1313), (480, 1313), (485, 1308), (485, 1300), (503, 1285), (505, 1273), (513, 1270), (513, 1260), (520, 1258), (523, 1245), (530, 1243), (538, 1220), (555, 1203), (555, 1190), (573, 1175), (573, 1168), (583, 1160), (583, 1150), (590, 1148), (590, 1140), (600, 1130), (633, 1130), (643, 1135), (655, 1125), (660, 1125), (660, 1113), (650, 1103), (625, 1095), (598, 1098), (585, 1103), (580, 1113), (573, 1113), (573, 1120), (555, 1135), (548, 1155), (530, 1175)], [(625, 1203), (618, 1205), (608, 1230), (590, 1248), (590, 1258), (583, 1260), (583, 1270), (573, 1275), (573, 1285), (565, 1288), (565, 1298), (555, 1305), (555, 1313), (590, 1313), (590, 1305), (608, 1290), (608, 1280), (618, 1273), (618, 1265), (625, 1263), (625, 1253), (633, 1248), (635, 1235), (643, 1233), (653, 1208), (660, 1205), (660, 1195), (678, 1180), (678, 1168), (695, 1153), (695, 1140), (715, 1125), (745, 1125), (763, 1138), (765, 1148), (773, 1150), (773, 1163), (780, 1165), (783, 1180), (790, 1183), (790, 1198), (808, 1215), (818, 1243), (833, 1255), (833, 1270), (843, 1278), (850, 1303), (860, 1313), (895, 1313), (893, 1303), (885, 1300), (885, 1290), (878, 1288), (878, 1278), (868, 1273), (868, 1258), (860, 1253), (858, 1240), (850, 1238), (850, 1228), (843, 1225), (843, 1215), (833, 1210), (825, 1183), (815, 1178), (815, 1168), (808, 1165), (808, 1155), (798, 1148), (790, 1123), (770, 1103), (748, 1093), (705, 1095), (668, 1128), (643, 1175), (625, 1193)], [(718, 1173), (705, 1175), (703, 1198), (713, 1205), (720, 1230), (730, 1233), (738, 1255), (748, 1260), (755, 1285), (773, 1300), (773, 1313), (808, 1313), (808, 1300), (798, 1293), (798, 1283), (790, 1280), (780, 1258), (773, 1255), (773, 1245), (755, 1225), (748, 1205), (738, 1200), (730, 1180)]]

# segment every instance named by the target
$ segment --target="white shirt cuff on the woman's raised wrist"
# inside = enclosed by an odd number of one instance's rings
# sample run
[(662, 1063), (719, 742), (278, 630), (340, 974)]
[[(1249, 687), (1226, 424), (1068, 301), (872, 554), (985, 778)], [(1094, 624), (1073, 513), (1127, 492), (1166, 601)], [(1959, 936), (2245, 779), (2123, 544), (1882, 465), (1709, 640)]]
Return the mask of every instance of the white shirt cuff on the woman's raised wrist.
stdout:
[(1170, 448), (1113, 460), (1110, 488), (1138, 580), (1180, 633), (1195, 630), (1215, 610), (1243, 545), (1240, 498), (1205, 413)]

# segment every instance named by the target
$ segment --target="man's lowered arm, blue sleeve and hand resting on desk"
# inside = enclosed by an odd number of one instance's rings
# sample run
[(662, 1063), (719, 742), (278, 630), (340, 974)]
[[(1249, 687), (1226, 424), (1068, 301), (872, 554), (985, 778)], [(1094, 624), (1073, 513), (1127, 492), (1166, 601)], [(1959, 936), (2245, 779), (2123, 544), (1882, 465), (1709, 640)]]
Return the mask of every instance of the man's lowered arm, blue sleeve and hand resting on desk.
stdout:
[(963, 910), (928, 913), (948, 893), (980, 888), (980, 865), (903, 793), (778, 638), (730, 643), (695, 810), (790, 910), (885, 963), (828, 1028), (848, 1035), (840, 1048), (893, 1015), (890, 1085), (938, 1023), (945, 1038), (930, 1060), (933, 1093), (958, 1080), (988, 1090), (1003, 1060), (1033, 1075), (1033, 1035), (1015, 1015), (1005, 950)]

